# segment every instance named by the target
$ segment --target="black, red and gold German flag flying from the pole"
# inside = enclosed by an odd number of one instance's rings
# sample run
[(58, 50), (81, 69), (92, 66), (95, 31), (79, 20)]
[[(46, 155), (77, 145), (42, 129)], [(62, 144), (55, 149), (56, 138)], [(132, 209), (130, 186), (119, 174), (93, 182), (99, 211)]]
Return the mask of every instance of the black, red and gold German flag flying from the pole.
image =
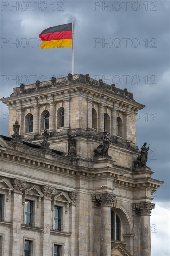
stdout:
[(49, 27), (39, 34), (41, 49), (72, 47), (72, 23)]

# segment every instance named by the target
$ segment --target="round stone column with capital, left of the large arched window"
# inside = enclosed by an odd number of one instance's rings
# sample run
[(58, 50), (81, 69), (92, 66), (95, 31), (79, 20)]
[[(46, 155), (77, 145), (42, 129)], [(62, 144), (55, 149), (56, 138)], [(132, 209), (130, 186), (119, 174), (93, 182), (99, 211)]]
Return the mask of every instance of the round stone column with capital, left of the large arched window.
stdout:
[(96, 199), (101, 205), (101, 254), (100, 256), (111, 255), (111, 207), (116, 195), (101, 193)]

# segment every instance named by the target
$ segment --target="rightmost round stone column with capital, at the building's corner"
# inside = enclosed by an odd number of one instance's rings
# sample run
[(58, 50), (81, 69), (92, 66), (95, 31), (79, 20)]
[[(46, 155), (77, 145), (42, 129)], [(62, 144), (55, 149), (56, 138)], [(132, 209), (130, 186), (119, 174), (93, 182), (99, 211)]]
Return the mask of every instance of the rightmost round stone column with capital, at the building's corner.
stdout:
[(140, 220), (140, 246), (141, 256), (151, 256), (151, 210), (155, 208), (154, 203), (141, 202), (134, 204), (141, 216)]

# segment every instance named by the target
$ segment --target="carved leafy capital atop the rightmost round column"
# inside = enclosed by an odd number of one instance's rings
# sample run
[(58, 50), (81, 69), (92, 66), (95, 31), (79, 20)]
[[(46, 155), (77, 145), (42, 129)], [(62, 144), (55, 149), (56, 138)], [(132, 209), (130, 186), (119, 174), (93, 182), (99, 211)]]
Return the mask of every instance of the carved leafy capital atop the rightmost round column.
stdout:
[(151, 202), (140, 202), (133, 203), (132, 210), (136, 215), (151, 215), (152, 209), (155, 208), (155, 203)]

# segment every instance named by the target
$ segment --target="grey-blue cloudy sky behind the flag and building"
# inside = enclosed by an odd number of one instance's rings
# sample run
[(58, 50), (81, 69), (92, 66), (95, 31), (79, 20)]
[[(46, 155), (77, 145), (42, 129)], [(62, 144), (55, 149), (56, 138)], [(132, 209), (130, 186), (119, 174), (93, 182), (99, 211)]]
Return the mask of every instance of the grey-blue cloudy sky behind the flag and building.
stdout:
[[(137, 141), (150, 143), (148, 166), (164, 180), (154, 194), (152, 256), (169, 256), (169, 22), (170, 1), (1, 1), (0, 96), (20, 83), (71, 72), (71, 48), (40, 49), (44, 29), (75, 19), (75, 74), (127, 88), (146, 107), (139, 111)], [(7, 113), (0, 104), (0, 134)], [(152, 226), (153, 228), (153, 226)], [(156, 233), (156, 234), (155, 234)]]

